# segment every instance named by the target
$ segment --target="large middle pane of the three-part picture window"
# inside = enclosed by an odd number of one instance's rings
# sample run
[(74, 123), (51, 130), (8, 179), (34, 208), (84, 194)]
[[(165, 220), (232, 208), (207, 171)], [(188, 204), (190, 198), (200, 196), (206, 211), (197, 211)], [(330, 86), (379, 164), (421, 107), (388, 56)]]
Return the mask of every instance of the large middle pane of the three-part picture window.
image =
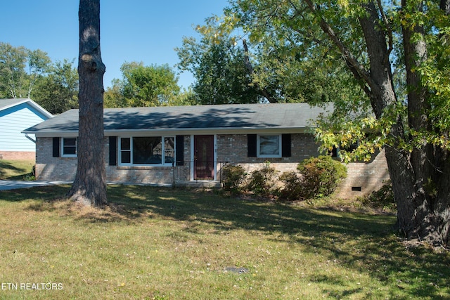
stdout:
[(161, 137), (133, 138), (134, 164), (162, 164)]

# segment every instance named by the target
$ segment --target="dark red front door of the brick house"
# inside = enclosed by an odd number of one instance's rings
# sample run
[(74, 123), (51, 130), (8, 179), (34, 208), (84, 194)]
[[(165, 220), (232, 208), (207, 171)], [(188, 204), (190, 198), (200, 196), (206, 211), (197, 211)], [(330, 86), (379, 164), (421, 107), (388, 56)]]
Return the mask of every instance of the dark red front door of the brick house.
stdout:
[(214, 136), (194, 136), (194, 179), (214, 180)]

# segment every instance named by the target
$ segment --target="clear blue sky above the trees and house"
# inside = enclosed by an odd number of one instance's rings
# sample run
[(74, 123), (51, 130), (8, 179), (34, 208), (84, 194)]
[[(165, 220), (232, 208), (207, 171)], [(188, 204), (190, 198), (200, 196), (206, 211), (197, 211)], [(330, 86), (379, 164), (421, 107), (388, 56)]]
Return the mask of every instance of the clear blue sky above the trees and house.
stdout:
[[(124, 62), (144, 65), (178, 63), (174, 48), (182, 38), (196, 37), (195, 25), (213, 14), (221, 15), (227, 0), (102, 0), (100, 6), (101, 55), (106, 65), (105, 87), (121, 78)], [(30, 50), (41, 49), (56, 60), (78, 58), (77, 0), (14, 0), (1, 4), (0, 41)], [(174, 71), (178, 72), (174, 68)], [(191, 74), (180, 74), (187, 87)]]

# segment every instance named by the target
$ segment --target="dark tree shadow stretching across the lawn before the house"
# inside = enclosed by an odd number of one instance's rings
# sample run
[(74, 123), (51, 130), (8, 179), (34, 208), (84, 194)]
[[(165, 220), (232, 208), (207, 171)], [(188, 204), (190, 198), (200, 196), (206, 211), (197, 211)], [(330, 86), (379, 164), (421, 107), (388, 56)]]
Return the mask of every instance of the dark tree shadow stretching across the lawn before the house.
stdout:
[[(67, 190), (63, 187), (15, 190), (0, 193), (0, 200), (30, 199), (27, 193), (32, 193), (32, 199), (43, 200), (49, 205), (34, 204), (29, 209), (53, 210), (58, 209), (58, 205), (48, 199), (56, 199)], [(199, 222), (212, 226), (213, 230), (208, 230), (208, 234), (223, 234), (234, 229), (255, 230), (266, 234), (268, 239), (302, 243), (305, 251), (319, 252), (329, 256), (330, 261), (368, 272), (390, 287), (397, 286), (402, 295), (408, 295), (405, 299), (439, 299), (439, 291), (447, 295), (450, 292), (449, 253), (437, 254), (426, 247), (407, 247), (399, 242), (392, 232), (395, 221), (392, 216), (308, 209), (193, 190), (132, 185), (109, 186), (108, 198), (109, 212), (89, 214), (84, 221), (140, 222), (158, 217), (191, 222), (186, 231), (194, 235), (205, 234), (204, 230), (197, 229)], [(333, 278), (322, 275), (311, 280), (345, 282), (339, 274)], [(340, 299), (358, 293), (360, 289), (323, 292)], [(397, 293), (392, 293), (392, 297), (401, 299)]]

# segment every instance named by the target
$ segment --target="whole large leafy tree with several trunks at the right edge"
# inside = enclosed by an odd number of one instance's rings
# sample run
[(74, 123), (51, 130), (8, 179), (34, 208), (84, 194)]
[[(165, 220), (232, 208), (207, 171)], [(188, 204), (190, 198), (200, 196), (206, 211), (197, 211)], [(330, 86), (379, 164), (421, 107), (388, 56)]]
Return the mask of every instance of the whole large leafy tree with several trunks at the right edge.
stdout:
[(399, 230), (441, 244), (450, 242), (449, 4), (242, 0), (231, 1), (224, 22), (255, 42), (276, 37), (274, 51), (345, 65), (366, 97), (335, 100), (319, 138), (330, 147), (359, 141), (349, 159), (384, 147)]

